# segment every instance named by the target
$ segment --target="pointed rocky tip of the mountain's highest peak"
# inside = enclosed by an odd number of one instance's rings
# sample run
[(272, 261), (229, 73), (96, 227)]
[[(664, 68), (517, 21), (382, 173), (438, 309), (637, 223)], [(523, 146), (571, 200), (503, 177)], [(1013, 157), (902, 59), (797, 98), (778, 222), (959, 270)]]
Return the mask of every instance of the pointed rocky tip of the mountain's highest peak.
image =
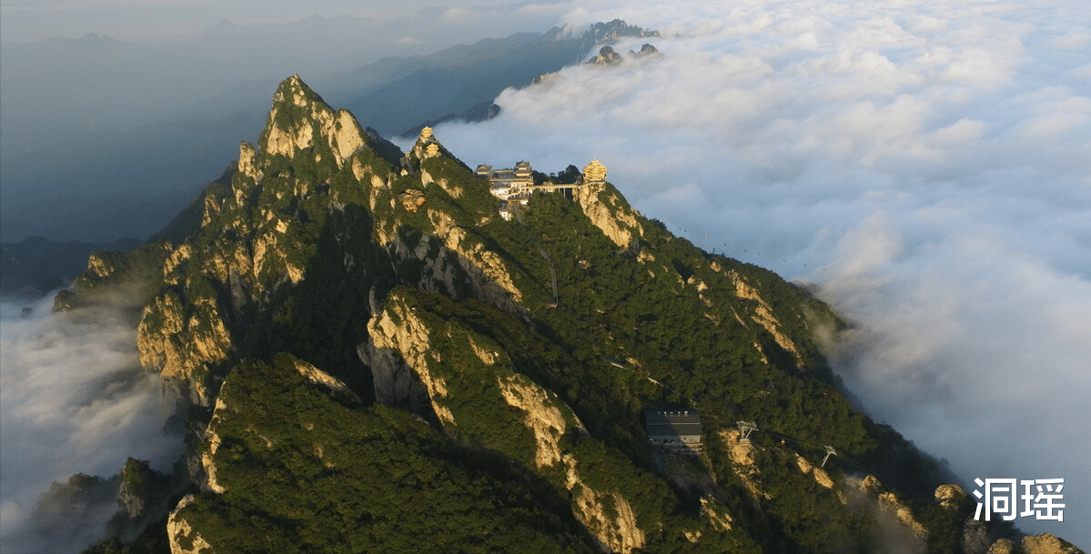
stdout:
[(266, 154), (292, 157), (315, 145), (327, 146), (340, 167), (356, 150), (368, 146), (368, 141), (348, 110), (335, 112), (298, 74), (292, 75), (273, 94), (259, 146)]

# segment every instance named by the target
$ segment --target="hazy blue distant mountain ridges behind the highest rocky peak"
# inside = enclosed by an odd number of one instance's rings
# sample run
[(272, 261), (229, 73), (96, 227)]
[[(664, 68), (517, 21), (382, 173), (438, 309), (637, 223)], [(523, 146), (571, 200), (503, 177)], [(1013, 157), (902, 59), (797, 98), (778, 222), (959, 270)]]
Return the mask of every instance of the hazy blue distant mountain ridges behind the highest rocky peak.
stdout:
[[(336, 74), (322, 86), (331, 91), (331, 101), (348, 107), (379, 133), (416, 133), (425, 124), (495, 116), (492, 99), (504, 88), (529, 85), (543, 73), (578, 63), (598, 45), (657, 35), (620, 20), (597, 23), (576, 37), (563, 36), (560, 28), (518, 33), (427, 56), (383, 58)], [(103, 49), (132, 52), (131, 45), (107, 37), (81, 40), (98, 55)], [(80, 41), (56, 39), (49, 44), (73, 50)], [(4, 63), (20, 60), (19, 50), (27, 48), (21, 45), (9, 51), (5, 47)], [(25, 58), (34, 59), (29, 53)], [(13, 245), (27, 237), (97, 244), (147, 238), (193, 198), (200, 183), (228, 166), (231, 160), (225, 153), (231, 152), (240, 137), (257, 136), (264, 121), (261, 110), (267, 108), (259, 98), (273, 86), (275, 82), (248, 81), (208, 99), (204, 107), (178, 112), (177, 117), (192, 119), (147, 123), (129, 132), (87, 131), (7, 153), (0, 172), (0, 239)], [(108, 104), (108, 98), (101, 101)], [(205, 119), (225, 111), (229, 113), (226, 117)], [(22, 252), (50, 255), (43, 239), (35, 239), (34, 249)], [(53, 251), (63, 255), (70, 250), (59, 244)], [(71, 263), (57, 266), (69, 267)], [(33, 265), (45, 267), (37, 262)], [(29, 284), (15, 278), (23, 273), (4, 275), (7, 279), (0, 281), (3, 290)], [(72, 277), (65, 270), (34, 281), (40, 285)]]

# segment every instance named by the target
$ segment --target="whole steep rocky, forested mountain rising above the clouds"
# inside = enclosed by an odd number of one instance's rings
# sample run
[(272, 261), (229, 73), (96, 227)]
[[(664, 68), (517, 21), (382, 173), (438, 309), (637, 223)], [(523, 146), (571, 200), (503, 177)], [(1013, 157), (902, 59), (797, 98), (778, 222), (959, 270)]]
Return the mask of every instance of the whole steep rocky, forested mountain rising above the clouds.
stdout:
[[(201, 429), (172, 551), (975, 552), (968, 532), (1008, 532), (966, 526), (938, 466), (851, 408), (824, 304), (585, 173), (505, 220), (431, 130), (403, 155), (281, 83), (230, 190), (163, 246), (139, 329)], [(649, 408), (697, 410), (704, 451), (650, 447)]]

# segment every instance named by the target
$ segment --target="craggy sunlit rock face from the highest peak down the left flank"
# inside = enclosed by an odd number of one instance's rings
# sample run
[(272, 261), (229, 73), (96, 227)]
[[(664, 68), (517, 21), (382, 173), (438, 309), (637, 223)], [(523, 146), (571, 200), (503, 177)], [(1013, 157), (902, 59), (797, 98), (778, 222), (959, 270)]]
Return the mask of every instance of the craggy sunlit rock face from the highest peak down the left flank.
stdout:
[(280, 84), (259, 147), (240, 145), (231, 195), (223, 204), (206, 198), (202, 231), (163, 266), (164, 287), (137, 332), (144, 368), (159, 371), (191, 402), (212, 406), (213, 374), (233, 349), (230, 323), (278, 288), (301, 282), (314, 250), (307, 242), (313, 226), (300, 220), (298, 202), (326, 185), (279, 168), (303, 157), (315, 171), (344, 168), (372, 184), (382, 179), (373, 169), (381, 164), (352, 157), (369, 149), (369, 140), (349, 112), (334, 111), (298, 75)]

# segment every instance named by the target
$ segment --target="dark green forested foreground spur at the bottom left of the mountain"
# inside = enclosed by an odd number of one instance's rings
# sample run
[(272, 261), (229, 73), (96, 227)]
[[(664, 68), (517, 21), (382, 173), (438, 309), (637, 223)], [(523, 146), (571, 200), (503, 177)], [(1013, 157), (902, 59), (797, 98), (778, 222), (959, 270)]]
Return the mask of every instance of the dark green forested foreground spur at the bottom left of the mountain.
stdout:
[(216, 552), (594, 552), (540, 479), (412, 414), (338, 402), (283, 354), (235, 369), (221, 495), (183, 515)]

